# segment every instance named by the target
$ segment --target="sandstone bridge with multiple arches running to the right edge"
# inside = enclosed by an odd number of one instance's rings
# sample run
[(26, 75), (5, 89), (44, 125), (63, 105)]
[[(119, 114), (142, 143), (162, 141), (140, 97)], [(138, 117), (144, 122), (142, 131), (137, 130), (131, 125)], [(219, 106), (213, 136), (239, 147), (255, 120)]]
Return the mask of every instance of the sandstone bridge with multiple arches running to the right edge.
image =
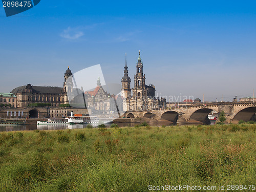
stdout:
[(239, 120), (255, 121), (255, 102), (218, 102), (191, 104), (161, 110), (127, 111), (125, 118), (144, 118), (149, 121), (168, 121), (173, 124), (210, 124), (208, 114), (225, 112), (226, 123), (238, 123)]

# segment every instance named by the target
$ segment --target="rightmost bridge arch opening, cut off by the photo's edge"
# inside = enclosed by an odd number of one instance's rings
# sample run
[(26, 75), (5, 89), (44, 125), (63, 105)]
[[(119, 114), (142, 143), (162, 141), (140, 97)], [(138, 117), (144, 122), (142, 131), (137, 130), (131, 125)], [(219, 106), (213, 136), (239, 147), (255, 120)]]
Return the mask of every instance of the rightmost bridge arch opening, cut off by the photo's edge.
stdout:
[(256, 106), (250, 106), (239, 111), (234, 115), (232, 122), (244, 120), (244, 121), (255, 121)]

